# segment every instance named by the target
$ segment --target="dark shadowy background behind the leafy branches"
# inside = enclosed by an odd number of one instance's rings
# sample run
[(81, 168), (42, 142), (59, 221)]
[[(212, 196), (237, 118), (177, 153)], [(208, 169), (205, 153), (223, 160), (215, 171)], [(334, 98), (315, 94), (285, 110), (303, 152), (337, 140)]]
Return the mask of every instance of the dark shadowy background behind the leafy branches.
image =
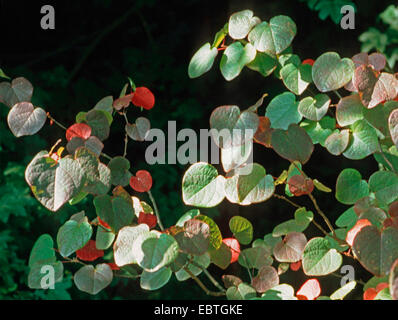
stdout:
[[(0, 67), (12, 78), (27, 77), (35, 86), (35, 105), (44, 107), (66, 126), (73, 124), (79, 111), (88, 111), (101, 98), (118, 96), (126, 77), (130, 76), (138, 86), (151, 88), (156, 96), (155, 108), (142, 112), (142, 116), (151, 120), (152, 127), (165, 130), (167, 121), (175, 120), (177, 130), (193, 128), (199, 132), (200, 128), (209, 127), (208, 119), (217, 106), (235, 104), (245, 108), (254, 104), (265, 92), (269, 94), (264, 104), (267, 105), (275, 95), (286, 90), (275, 77), (263, 78), (248, 69), (235, 80), (226, 82), (217, 67), (219, 58), (206, 75), (195, 80), (188, 78), (187, 67), (192, 55), (202, 44), (213, 41), (215, 33), (232, 13), (251, 9), (262, 20), (279, 14), (290, 16), (298, 26), (293, 50), (304, 60), (316, 59), (326, 51), (336, 51), (345, 57), (358, 53), (358, 36), (375, 25), (376, 15), (390, 3), (394, 1), (356, 1), (356, 29), (342, 30), (330, 19), (321, 21), (316, 12), (296, 0), (1, 0)], [(56, 30), (40, 28), (40, 8), (44, 4), (55, 8)], [(133, 10), (129, 12), (131, 8)], [(126, 16), (126, 13), (129, 15)], [(43, 298), (25, 285), (27, 257), (39, 235), (56, 235), (60, 224), (77, 211), (76, 208), (65, 208), (51, 214), (38, 206), (25, 185), (23, 168), (39, 150), (48, 150), (63, 132), (55, 126), (46, 126), (40, 137), (16, 140), (8, 132), (4, 121), (8, 110), (3, 106), (0, 110), (0, 169), (3, 171), (0, 180), (3, 201), (0, 204), (0, 253), (5, 254), (0, 257), (0, 297)], [(259, 114), (264, 112), (263, 106)], [(140, 115), (137, 109), (130, 111), (129, 118), (132, 122)], [(115, 120), (112, 130), (104, 152), (116, 156), (123, 153), (123, 121)], [(181, 200), (181, 179), (187, 166), (149, 167), (144, 162), (145, 147), (145, 143), (129, 144), (128, 158), (132, 171), (151, 171), (153, 193), (163, 222), (171, 226), (189, 209)], [(255, 147), (254, 159), (274, 176), (288, 167), (287, 161), (259, 145)], [(347, 167), (358, 169), (365, 178), (377, 170), (373, 158), (357, 162), (337, 158), (319, 145), (304, 169), (309, 176), (333, 188), (338, 173)], [(336, 202), (333, 193), (317, 192), (315, 195), (332, 221), (347, 209)], [(91, 200), (84, 202), (80, 209), (93, 216), (95, 212)], [(305, 199), (297, 201), (307, 204)], [(18, 210), (15, 206), (19, 206)], [(239, 207), (224, 201), (217, 209), (202, 212), (214, 217), (224, 237), (230, 236), (229, 218), (239, 214), (252, 221), (255, 236), (262, 238), (275, 225), (291, 218), (294, 210), (272, 199), (250, 207)], [(308, 236), (317, 234), (315, 229), (308, 232)], [(217, 276), (223, 274), (213, 267), (210, 270)], [(236, 264), (226, 271), (240, 272)], [(244, 273), (241, 275), (246, 277)], [(357, 277), (367, 280), (369, 275), (364, 273)], [(292, 283), (296, 288), (304, 279), (301, 272), (281, 277), (282, 282)], [(323, 281), (323, 294), (333, 292), (338, 283), (339, 280), (334, 278)], [(92, 298), (79, 293), (73, 286), (69, 292), (74, 299)], [(151, 293), (143, 292), (137, 281), (115, 281), (105, 292), (94, 297), (99, 298), (202, 299), (206, 296), (192, 281), (178, 283), (173, 278), (166, 287)]]

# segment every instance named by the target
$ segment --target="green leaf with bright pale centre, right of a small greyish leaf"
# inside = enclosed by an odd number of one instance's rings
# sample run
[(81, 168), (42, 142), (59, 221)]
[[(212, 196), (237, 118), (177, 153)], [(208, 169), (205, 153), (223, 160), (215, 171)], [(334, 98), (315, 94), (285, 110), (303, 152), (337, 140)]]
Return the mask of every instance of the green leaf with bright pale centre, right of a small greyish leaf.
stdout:
[(351, 125), (351, 130), (352, 138), (343, 153), (346, 158), (360, 160), (379, 149), (376, 131), (366, 120), (358, 120)]

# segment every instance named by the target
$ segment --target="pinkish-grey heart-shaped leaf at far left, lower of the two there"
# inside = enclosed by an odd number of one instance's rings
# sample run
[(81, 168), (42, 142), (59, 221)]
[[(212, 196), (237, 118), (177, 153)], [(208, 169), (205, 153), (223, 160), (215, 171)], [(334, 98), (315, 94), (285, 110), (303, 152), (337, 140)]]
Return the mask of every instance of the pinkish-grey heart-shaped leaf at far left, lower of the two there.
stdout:
[(42, 108), (35, 108), (30, 102), (20, 102), (8, 113), (7, 122), (14, 136), (19, 138), (39, 132), (46, 119), (46, 112)]

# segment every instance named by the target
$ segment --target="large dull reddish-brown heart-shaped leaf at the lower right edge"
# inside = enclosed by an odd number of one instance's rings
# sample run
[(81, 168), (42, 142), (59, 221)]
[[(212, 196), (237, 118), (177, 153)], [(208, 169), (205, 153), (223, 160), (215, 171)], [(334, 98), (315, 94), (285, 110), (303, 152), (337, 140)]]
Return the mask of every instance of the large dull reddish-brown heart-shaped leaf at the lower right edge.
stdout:
[(376, 276), (388, 275), (398, 259), (398, 230), (389, 227), (380, 232), (374, 226), (364, 227), (352, 247), (362, 266)]

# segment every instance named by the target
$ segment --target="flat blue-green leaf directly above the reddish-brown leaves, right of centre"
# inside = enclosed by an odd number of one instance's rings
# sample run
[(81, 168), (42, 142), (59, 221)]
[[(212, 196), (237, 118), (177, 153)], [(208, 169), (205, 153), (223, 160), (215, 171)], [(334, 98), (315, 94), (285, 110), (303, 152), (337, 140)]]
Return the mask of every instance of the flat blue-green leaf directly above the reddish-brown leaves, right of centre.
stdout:
[(298, 112), (296, 96), (291, 92), (277, 95), (267, 106), (265, 116), (271, 121), (271, 128), (287, 130), (292, 123), (299, 123), (302, 119)]

